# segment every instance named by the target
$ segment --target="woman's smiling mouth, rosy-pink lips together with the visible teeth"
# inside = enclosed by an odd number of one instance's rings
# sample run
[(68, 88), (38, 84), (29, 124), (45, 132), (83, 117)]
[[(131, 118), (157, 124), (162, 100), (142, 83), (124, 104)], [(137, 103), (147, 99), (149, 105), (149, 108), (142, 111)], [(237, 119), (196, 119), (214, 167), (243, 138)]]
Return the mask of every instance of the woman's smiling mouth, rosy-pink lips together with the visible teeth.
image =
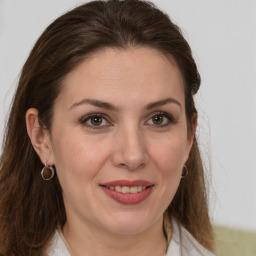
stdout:
[(154, 184), (144, 181), (113, 181), (101, 184), (105, 194), (121, 204), (138, 204), (144, 201), (153, 191)]

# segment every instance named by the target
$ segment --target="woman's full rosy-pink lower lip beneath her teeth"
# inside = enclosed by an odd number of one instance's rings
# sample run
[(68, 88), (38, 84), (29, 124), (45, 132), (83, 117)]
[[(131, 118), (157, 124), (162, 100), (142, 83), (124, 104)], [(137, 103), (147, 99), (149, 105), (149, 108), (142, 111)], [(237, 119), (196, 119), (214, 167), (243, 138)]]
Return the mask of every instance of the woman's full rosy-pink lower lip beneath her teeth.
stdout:
[(145, 200), (152, 192), (153, 190), (153, 186), (150, 186), (148, 188), (146, 188), (145, 190), (138, 192), (138, 193), (121, 193), (121, 192), (117, 192), (115, 190), (110, 190), (107, 189), (105, 187), (101, 187), (103, 189), (103, 191), (112, 199), (114, 199), (115, 201), (121, 203), (121, 204), (138, 204), (140, 202), (142, 202), (143, 200)]

